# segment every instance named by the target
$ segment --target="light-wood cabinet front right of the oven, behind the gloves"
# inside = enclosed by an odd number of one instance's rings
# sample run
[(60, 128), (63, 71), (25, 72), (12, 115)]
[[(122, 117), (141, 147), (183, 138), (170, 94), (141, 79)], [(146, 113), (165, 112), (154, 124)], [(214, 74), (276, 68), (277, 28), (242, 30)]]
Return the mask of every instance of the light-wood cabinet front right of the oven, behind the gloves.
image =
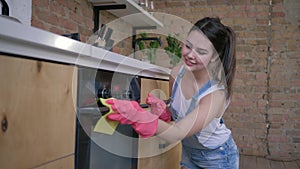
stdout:
[[(169, 99), (169, 82), (163, 80), (141, 79), (141, 103), (146, 102), (149, 92), (162, 100), (167, 100)], [(149, 139), (140, 138), (138, 153), (139, 169), (180, 168), (180, 143), (168, 144), (158, 137), (151, 137)]]

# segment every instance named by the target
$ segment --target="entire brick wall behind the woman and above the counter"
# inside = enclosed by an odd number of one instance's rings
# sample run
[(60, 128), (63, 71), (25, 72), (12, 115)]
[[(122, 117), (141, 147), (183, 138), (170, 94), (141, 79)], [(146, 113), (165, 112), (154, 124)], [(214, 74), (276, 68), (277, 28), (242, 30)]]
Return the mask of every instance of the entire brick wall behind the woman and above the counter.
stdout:
[[(192, 23), (219, 16), (237, 34), (237, 73), (225, 113), (240, 153), (300, 158), (300, 47), (297, 0), (155, 0), (155, 11)], [(86, 0), (33, 0), (32, 25), (58, 34), (92, 34)], [(113, 19), (102, 13), (102, 19)], [(106, 19), (105, 19), (106, 18)], [(130, 40), (115, 47), (127, 55)]]

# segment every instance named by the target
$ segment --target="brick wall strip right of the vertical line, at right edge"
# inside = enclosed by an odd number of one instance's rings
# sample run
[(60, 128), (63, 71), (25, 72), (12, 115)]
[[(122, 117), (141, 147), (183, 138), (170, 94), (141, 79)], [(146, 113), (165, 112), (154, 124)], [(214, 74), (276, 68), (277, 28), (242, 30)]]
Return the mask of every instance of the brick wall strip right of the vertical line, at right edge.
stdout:
[(300, 157), (300, 1), (274, 0), (268, 142), (272, 157)]

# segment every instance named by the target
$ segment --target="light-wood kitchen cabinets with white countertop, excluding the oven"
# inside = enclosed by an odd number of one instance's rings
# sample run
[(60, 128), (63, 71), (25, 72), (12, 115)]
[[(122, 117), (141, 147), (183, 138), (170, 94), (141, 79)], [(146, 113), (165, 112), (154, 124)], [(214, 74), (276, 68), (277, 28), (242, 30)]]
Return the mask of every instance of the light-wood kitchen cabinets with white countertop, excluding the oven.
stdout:
[[(143, 77), (142, 102), (153, 89), (168, 92), (167, 68), (1, 17), (0, 25), (0, 168), (76, 167), (77, 83), (82, 67)], [(139, 141), (139, 168), (174, 169), (172, 165), (179, 164), (177, 144), (153, 140), (146, 149), (147, 142)], [(151, 148), (158, 153), (146, 157)]]

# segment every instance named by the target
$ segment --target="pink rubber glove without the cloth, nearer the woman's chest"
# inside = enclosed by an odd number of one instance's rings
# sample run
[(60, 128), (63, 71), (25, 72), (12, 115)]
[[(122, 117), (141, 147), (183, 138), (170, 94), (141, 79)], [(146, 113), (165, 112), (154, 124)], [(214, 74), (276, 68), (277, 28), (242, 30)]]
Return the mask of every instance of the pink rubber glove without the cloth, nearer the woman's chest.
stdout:
[(165, 104), (164, 101), (153, 96), (152, 93), (148, 93), (146, 103), (150, 104), (152, 114), (159, 116), (159, 119), (162, 119), (167, 123), (171, 121), (171, 113), (167, 111), (166, 109), (167, 105)]

